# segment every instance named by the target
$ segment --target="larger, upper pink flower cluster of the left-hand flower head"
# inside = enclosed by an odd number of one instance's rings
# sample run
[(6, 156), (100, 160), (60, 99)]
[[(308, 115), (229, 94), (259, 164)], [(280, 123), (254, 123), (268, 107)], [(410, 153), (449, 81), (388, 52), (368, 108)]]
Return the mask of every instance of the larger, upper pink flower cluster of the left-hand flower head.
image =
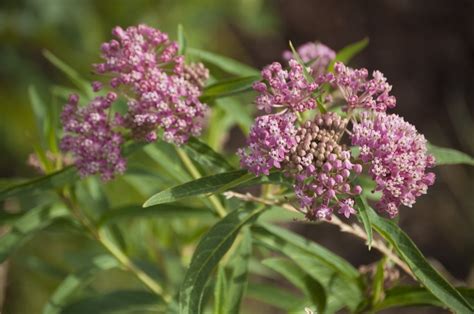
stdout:
[(113, 34), (118, 41), (102, 45), (105, 62), (95, 68), (100, 74), (114, 76), (112, 87), (122, 86), (131, 93), (124, 126), (135, 138), (148, 142), (157, 139), (159, 128), (166, 141), (176, 144), (199, 135), (207, 106), (199, 101), (201, 86), (194, 82), (207, 79), (208, 71), (201, 67), (201, 71), (192, 71), (191, 77), (184, 57), (177, 54), (177, 43), (152, 27), (116, 27)]

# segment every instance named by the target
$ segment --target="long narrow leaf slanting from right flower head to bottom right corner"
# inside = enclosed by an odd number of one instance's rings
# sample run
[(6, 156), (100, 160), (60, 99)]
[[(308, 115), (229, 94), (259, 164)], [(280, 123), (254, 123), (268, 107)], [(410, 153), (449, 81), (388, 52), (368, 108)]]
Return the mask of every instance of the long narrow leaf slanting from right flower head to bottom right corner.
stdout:
[(377, 215), (370, 207), (368, 208), (368, 214), (374, 229), (393, 245), (415, 277), (433, 295), (456, 313), (472, 313), (474, 311), (474, 307), (466, 301), (459, 291), (428, 263), (415, 243), (403, 230), (394, 222)]

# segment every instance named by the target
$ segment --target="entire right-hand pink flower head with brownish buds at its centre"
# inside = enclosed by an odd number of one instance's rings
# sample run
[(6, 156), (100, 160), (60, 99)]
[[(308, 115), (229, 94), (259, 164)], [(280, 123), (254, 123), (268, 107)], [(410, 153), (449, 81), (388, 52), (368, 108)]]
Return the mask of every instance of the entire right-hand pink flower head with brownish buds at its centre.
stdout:
[[(299, 51), (303, 54), (309, 47)], [(401, 205), (411, 207), (434, 183), (434, 174), (426, 173), (434, 158), (427, 153), (423, 135), (399, 116), (385, 113), (396, 100), (381, 72), (374, 71), (369, 79), (366, 69), (336, 63), (334, 73), (321, 71), (314, 83), (291, 59), (288, 70), (273, 63), (261, 74), (263, 80), (254, 84), (256, 104), (267, 115), (256, 118), (247, 148), (239, 151), (241, 165), (255, 175), (279, 169), (292, 177), (295, 196), (308, 219), (331, 219), (334, 212), (346, 218), (355, 214), (355, 196), (362, 187), (353, 182), (363, 165), (376, 190), (382, 191), (376, 207), (390, 217)], [(325, 84), (342, 94), (343, 116), (348, 118), (327, 112), (297, 120), (299, 113), (316, 108), (317, 97), (327, 92)], [(332, 105), (327, 97), (331, 95), (325, 96)], [(359, 156), (344, 144), (347, 139), (360, 146)]]

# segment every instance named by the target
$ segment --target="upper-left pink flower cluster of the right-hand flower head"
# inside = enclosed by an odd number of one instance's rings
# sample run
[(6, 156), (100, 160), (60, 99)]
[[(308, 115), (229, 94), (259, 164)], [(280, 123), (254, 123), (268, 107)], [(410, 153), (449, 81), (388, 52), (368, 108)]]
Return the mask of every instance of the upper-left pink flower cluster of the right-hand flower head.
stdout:
[(303, 112), (316, 107), (311, 96), (318, 84), (308, 82), (303, 67), (295, 60), (289, 61), (290, 69), (285, 70), (274, 62), (262, 70), (263, 82), (256, 82), (254, 90), (259, 93), (257, 108), (270, 113), (273, 108)]

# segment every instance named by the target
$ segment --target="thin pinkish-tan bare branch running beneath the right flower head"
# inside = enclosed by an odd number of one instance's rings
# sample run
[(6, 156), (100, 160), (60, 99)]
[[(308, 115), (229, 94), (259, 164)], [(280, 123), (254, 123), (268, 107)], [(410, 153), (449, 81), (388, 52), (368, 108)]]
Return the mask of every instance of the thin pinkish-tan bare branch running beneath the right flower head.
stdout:
[[(254, 196), (250, 193), (241, 194), (241, 193), (236, 193), (236, 192), (229, 191), (229, 192), (225, 192), (224, 196), (227, 197), (227, 198), (234, 197), (234, 198), (238, 198), (238, 199), (243, 200), (243, 201), (257, 202), (257, 203), (261, 203), (261, 204), (265, 204), (265, 205), (269, 205), (269, 206), (279, 206), (281, 208), (284, 208), (284, 209), (292, 211), (292, 212), (301, 213), (300, 210), (298, 210), (297, 208), (295, 208), (294, 206), (292, 206), (288, 203), (279, 203), (279, 202), (270, 201), (270, 200), (267, 200), (267, 199), (256, 197), (256, 196)], [(352, 235), (354, 235), (354, 236), (356, 236), (360, 239), (363, 239), (365, 242), (367, 242), (367, 234), (357, 224), (351, 224), (351, 225), (346, 224), (346, 223), (342, 222), (336, 216), (333, 216), (331, 220), (324, 220), (324, 221), (326, 223), (338, 226), (339, 229), (342, 232), (350, 233), (350, 234), (352, 234)], [(403, 269), (403, 271), (405, 271), (405, 273), (407, 273), (410, 277), (415, 279), (413, 273), (411, 272), (411, 270), (407, 266), (407, 264), (405, 264), (405, 262), (403, 262), (397, 255), (395, 255), (392, 252), (392, 250), (390, 248), (388, 248), (382, 240), (373, 239), (372, 240), (372, 247), (374, 247), (379, 252), (386, 255), (390, 260), (392, 260), (401, 269)]]

